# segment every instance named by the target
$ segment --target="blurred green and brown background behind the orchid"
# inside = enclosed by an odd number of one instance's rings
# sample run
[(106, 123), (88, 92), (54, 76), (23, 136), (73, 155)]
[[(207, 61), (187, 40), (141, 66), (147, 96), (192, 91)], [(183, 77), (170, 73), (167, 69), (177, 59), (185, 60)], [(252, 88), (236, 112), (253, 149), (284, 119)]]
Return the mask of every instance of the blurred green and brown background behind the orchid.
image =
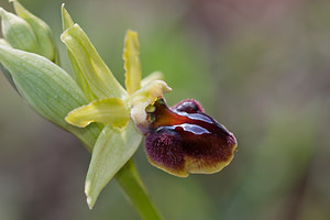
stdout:
[[(329, 0), (21, 2), (52, 26), (69, 73), (62, 2), (121, 82), (123, 36), (138, 31), (143, 75), (164, 73), (167, 102), (197, 99), (235, 134), (228, 167), (188, 178), (151, 166), (141, 145), (134, 160), (165, 219), (330, 219)], [(88, 209), (89, 158), (0, 74), (0, 219), (139, 219), (114, 180)]]

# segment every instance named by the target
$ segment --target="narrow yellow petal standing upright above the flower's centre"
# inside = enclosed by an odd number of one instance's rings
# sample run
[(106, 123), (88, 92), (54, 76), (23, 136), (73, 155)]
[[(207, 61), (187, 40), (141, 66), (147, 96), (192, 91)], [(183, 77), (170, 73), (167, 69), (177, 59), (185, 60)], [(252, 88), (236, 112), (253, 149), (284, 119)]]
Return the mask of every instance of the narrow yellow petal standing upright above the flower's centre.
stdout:
[(139, 59), (140, 45), (138, 33), (129, 30), (124, 40), (125, 87), (129, 95), (141, 88), (141, 64)]

